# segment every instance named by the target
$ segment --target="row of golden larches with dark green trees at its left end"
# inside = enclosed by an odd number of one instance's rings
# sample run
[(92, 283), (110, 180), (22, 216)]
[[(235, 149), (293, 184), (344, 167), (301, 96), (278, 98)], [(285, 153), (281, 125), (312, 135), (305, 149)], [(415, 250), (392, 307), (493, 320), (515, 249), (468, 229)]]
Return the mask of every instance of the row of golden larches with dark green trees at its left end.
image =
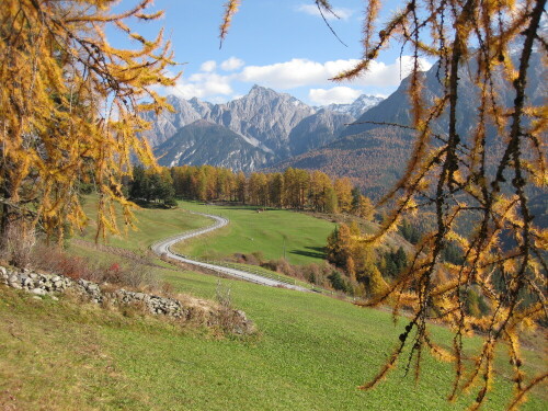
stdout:
[(134, 168), (127, 184), (133, 199), (174, 205), (174, 197), (202, 202), (222, 201), (254, 206), (319, 213), (347, 213), (365, 219), (373, 204), (349, 178), (332, 179), (321, 171), (288, 168), (282, 172), (246, 175), (213, 165)]

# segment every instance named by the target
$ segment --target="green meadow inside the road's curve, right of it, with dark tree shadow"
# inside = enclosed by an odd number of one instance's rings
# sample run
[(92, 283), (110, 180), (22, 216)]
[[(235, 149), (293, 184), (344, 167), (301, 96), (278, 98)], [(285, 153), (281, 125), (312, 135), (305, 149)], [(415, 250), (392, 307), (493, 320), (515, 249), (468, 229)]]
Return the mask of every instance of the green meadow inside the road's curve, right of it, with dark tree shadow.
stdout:
[(181, 202), (185, 209), (220, 215), (230, 224), (173, 249), (183, 254), (220, 259), (237, 252), (261, 252), (266, 260), (285, 255), (292, 264), (318, 263), (334, 224), (290, 210), (258, 213), (255, 207), (207, 206)]

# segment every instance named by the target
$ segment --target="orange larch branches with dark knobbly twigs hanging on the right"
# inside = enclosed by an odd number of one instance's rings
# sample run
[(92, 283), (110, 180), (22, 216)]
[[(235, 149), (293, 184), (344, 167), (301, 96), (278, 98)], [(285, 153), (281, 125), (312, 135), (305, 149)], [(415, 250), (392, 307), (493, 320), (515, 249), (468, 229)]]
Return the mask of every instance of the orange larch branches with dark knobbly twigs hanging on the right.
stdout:
[[(228, 1), (221, 26), (226, 36), (240, 1)], [(332, 2), (316, 0), (322, 15), (335, 14)], [(410, 125), (414, 150), (401, 180), (381, 201), (395, 204), (379, 232), (362, 238), (376, 244), (409, 214), (434, 210), (434, 228), (415, 246), (409, 267), (388, 289), (368, 305), (389, 302), (395, 316), (411, 309), (409, 323), (387, 364), (362, 389), (375, 387), (400, 359), (406, 346), (407, 368), (419, 378), (425, 352), (455, 364), (449, 392), (476, 388), (471, 409), (484, 403), (493, 387), (498, 346), (507, 352), (513, 367), (514, 397), (509, 409), (525, 401), (530, 389), (548, 379), (548, 373), (527, 375), (520, 352), (520, 334), (548, 320), (545, 260), (548, 236), (532, 213), (530, 193), (546, 190), (545, 141), (548, 111), (544, 102), (526, 95), (528, 68), (536, 52), (546, 65), (548, 41), (541, 27), (546, 0), (407, 0), (388, 22), (379, 22), (380, 0), (365, 1), (363, 56), (335, 81), (352, 80), (367, 72), (384, 48), (398, 43), (411, 50), (409, 77)], [(326, 21), (327, 22), (327, 21)], [(420, 57), (437, 60), (442, 93), (426, 99)], [(468, 71), (477, 87), (477, 118), (461, 132), (457, 102), (461, 76)], [(501, 91), (513, 95), (504, 104)], [(447, 126), (439, 133), (439, 119)], [(458, 222), (475, 227), (459, 232)], [(458, 244), (464, 262), (444, 261), (444, 250)], [(470, 290), (489, 301), (489, 313), (467, 313)], [(444, 322), (454, 333), (453, 346), (433, 340), (432, 322)], [(483, 345), (465, 361), (464, 340), (480, 330)]]

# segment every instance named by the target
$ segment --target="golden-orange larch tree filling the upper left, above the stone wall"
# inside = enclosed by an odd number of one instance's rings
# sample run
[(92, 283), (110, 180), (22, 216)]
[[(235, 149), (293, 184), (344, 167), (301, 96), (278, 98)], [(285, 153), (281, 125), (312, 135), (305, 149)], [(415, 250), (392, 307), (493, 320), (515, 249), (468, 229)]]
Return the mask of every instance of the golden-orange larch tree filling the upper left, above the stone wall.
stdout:
[[(39, 227), (62, 238), (67, 221), (81, 227), (79, 186), (99, 192), (98, 236), (116, 232), (114, 203), (130, 224), (121, 179), (130, 157), (155, 162), (139, 132), (142, 111), (168, 104), (155, 92), (172, 85), (173, 65), (162, 33), (146, 39), (125, 23), (147, 13), (151, 0), (119, 14), (112, 0), (3, 0), (0, 7), (0, 231)], [(138, 45), (113, 47), (113, 26)], [(144, 103), (148, 101), (148, 103)]]

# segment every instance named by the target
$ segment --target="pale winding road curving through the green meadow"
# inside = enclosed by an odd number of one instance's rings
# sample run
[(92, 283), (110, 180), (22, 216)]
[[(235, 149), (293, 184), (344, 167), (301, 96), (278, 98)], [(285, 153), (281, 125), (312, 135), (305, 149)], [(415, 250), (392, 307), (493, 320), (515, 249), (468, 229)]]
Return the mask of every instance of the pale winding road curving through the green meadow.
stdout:
[(215, 220), (215, 224), (213, 226), (209, 226), (206, 228), (202, 228), (202, 229), (194, 230), (194, 231), (183, 232), (181, 235), (173, 236), (173, 237), (160, 240), (158, 242), (155, 242), (150, 247), (152, 249), (152, 251), (155, 253), (157, 253), (158, 255), (165, 254), (170, 259), (182, 261), (183, 263), (187, 263), (191, 265), (196, 265), (196, 266), (201, 266), (204, 269), (213, 270), (215, 272), (230, 275), (232, 277), (246, 279), (246, 281), (251, 282), (251, 283), (267, 285), (271, 287), (292, 288), (292, 289), (296, 289), (299, 292), (310, 292), (309, 289), (307, 289), (305, 287), (299, 287), (298, 285), (282, 283), (282, 282), (278, 282), (276, 279), (262, 277), (260, 275), (251, 274), (251, 273), (248, 273), (246, 271), (240, 271), (240, 270), (229, 269), (229, 267), (225, 267), (225, 266), (220, 266), (220, 265), (204, 263), (202, 261), (192, 260), (190, 258), (182, 256), (182, 255), (179, 255), (179, 254), (171, 252), (170, 247), (176, 242), (184, 241), (184, 240), (187, 240), (187, 239), (193, 238), (193, 237), (202, 236), (206, 232), (217, 230), (217, 229), (228, 225), (228, 219), (226, 219), (224, 217), (215, 216), (212, 214), (203, 214), (203, 213), (194, 213), (194, 214), (198, 214), (201, 216), (213, 218)]

